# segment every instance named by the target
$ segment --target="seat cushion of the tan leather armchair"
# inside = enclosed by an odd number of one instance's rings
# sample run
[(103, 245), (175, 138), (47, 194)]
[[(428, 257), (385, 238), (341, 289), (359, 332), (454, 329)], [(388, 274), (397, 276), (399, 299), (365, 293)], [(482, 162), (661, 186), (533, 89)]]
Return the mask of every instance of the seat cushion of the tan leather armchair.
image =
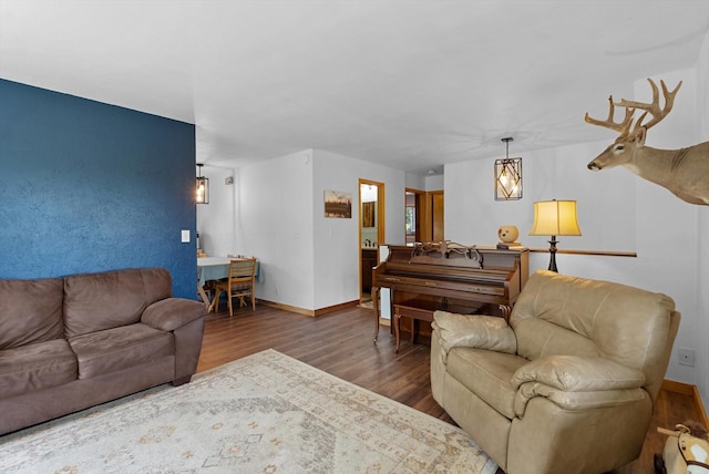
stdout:
[(453, 348), (446, 371), (467, 390), (508, 419), (515, 416), (516, 390), (512, 377), (530, 361), (518, 356), (485, 349)]

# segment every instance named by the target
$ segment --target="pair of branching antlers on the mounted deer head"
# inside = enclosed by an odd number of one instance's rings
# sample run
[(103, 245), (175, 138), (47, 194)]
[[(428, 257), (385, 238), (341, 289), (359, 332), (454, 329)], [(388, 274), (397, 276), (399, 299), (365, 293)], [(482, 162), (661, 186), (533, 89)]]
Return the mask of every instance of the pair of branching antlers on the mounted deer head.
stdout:
[[(620, 136), (634, 135), (640, 127), (645, 127), (645, 130), (650, 128), (654, 125), (657, 125), (662, 118), (665, 118), (669, 112), (672, 110), (672, 105), (675, 105), (675, 95), (677, 95), (677, 91), (682, 85), (682, 81), (679, 81), (674, 91), (668, 91), (667, 85), (665, 85), (665, 81), (660, 80), (660, 85), (662, 86), (662, 95), (665, 96), (665, 109), (660, 109), (660, 96), (659, 90), (657, 89), (657, 84), (648, 78), (648, 82), (653, 87), (653, 102), (646, 104), (644, 102), (637, 101), (628, 101), (626, 99), (621, 99), (620, 102), (613, 102), (613, 95), (608, 97), (609, 102), (609, 111), (608, 118), (605, 121), (599, 121), (596, 118), (592, 118), (588, 116), (588, 112), (586, 112), (585, 121), (592, 125), (598, 125), (606, 128), (615, 130), (616, 132), (620, 132)], [(619, 105), (625, 107), (625, 118), (623, 122), (616, 123), (613, 120), (615, 113), (615, 106)], [(645, 111), (640, 118), (635, 122), (635, 126), (633, 127), (633, 132), (630, 132), (630, 124), (633, 123), (633, 114), (635, 111), (639, 109)], [(643, 124), (643, 121), (647, 116), (647, 114), (653, 115), (653, 118), (647, 123)]]

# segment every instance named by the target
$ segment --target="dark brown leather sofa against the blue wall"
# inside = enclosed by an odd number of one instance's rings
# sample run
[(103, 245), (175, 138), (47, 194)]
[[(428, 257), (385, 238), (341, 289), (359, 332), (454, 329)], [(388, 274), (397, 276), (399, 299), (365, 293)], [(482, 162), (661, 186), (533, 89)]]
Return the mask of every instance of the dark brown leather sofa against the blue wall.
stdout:
[(205, 315), (161, 268), (0, 280), (0, 434), (188, 382)]

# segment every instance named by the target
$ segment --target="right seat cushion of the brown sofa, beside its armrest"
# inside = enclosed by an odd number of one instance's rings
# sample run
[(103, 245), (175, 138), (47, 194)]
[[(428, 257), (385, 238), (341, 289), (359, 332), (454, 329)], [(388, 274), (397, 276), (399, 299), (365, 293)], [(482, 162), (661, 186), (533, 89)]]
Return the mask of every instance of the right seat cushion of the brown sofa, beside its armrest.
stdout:
[(141, 322), (76, 336), (69, 343), (79, 359), (79, 379), (91, 379), (175, 353), (171, 332)]

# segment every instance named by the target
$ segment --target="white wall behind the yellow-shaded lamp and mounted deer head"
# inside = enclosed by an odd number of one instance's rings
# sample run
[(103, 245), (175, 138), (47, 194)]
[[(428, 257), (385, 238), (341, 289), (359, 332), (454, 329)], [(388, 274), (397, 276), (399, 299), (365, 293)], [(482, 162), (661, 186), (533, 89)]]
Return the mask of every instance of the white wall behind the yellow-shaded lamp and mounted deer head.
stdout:
[[(675, 148), (698, 143), (695, 72), (680, 71), (656, 79), (665, 79), (670, 87), (681, 79), (684, 85), (668, 118), (648, 132), (647, 145)], [(646, 79), (637, 81), (635, 91), (637, 100), (649, 101)], [(583, 111), (578, 117), (583, 120)], [(706, 275), (703, 281), (698, 276), (707, 265), (707, 250), (700, 254), (700, 234), (707, 235), (709, 207), (685, 203), (625, 168), (588, 171), (586, 164), (613, 140), (614, 132), (608, 131), (605, 142), (535, 152), (515, 150), (524, 164), (524, 197), (517, 202), (494, 200), (491, 175), (495, 157), (445, 166), (446, 238), (469, 245), (494, 245), (500, 225), (516, 225), (525, 246), (548, 248), (548, 238), (528, 236), (533, 203), (576, 199), (583, 236), (559, 237), (559, 248), (636, 251), (638, 257), (558, 254), (559, 272), (624, 282), (672, 297), (682, 321), (667, 378), (698, 387), (698, 380), (703, 379), (706, 393), (708, 315), (707, 302), (700, 302), (698, 295), (709, 285)], [(703, 262), (698, 256), (705, 257)], [(548, 258), (548, 254), (532, 254), (531, 271), (546, 268)], [(697, 351), (695, 368), (679, 365), (679, 347)]]

